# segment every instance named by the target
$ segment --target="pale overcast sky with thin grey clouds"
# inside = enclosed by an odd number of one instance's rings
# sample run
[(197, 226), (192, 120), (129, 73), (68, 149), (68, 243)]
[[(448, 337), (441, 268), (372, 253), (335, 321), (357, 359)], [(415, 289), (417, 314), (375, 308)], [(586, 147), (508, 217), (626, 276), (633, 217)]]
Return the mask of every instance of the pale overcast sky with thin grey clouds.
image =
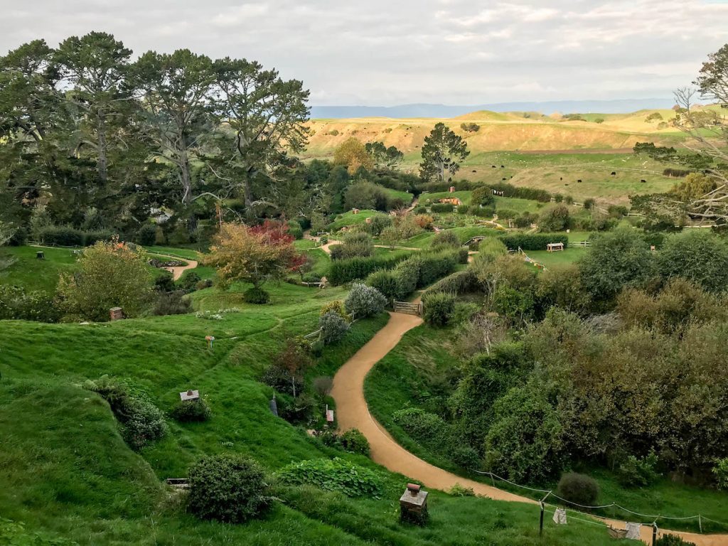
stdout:
[(314, 105), (665, 98), (728, 42), (706, 0), (0, 0), (0, 51), (88, 31), (278, 68)]

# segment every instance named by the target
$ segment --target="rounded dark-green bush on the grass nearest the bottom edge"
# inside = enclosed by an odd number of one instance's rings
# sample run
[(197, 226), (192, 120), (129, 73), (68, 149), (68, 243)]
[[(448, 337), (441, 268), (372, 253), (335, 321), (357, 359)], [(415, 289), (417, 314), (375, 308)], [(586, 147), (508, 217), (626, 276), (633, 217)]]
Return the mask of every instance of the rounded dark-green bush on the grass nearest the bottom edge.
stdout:
[(240, 455), (212, 455), (189, 470), (189, 510), (198, 518), (242, 523), (268, 507), (261, 467)]

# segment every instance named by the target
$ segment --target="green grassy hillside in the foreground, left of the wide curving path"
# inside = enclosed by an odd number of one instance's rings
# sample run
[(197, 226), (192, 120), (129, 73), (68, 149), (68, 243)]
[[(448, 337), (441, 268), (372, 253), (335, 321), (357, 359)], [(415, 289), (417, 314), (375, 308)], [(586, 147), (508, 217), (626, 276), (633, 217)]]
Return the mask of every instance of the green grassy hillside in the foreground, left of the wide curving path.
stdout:
[[(376, 468), (362, 456), (325, 448), (302, 428), (274, 417), (272, 390), (258, 381), (290, 336), (317, 326), (320, 306), (344, 290), (281, 284), (268, 287), (272, 304), (239, 301), (240, 290), (193, 294), (198, 309), (237, 306), (223, 320), (194, 314), (98, 325), (44, 325), (4, 321), (0, 327), (0, 513), (46, 537), (80, 545), (531, 545), (538, 510), (518, 503), (455, 498), (432, 491), (427, 527), (397, 523), (397, 499), (406, 478), (377, 470), (382, 499), (348, 499), (317, 488), (275, 486), (263, 518), (242, 525), (198, 521), (162, 486), (183, 477), (200, 456), (253, 456), (268, 472), (291, 461), (342, 456)], [(309, 377), (333, 375), (387, 316), (352, 326), (325, 349)], [(215, 335), (207, 349), (204, 335)], [(195, 388), (213, 411), (205, 423), (167, 419), (162, 440), (130, 451), (106, 402), (82, 389), (84, 379), (111, 374), (145, 392), (164, 411), (178, 392)], [(475, 524), (474, 524), (475, 523)], [(295, 538), (293, 538), (295, 537)], [(294, 542), (291, 542), (291, 541)], [(606, 545), (593, 524), (547, 522), (548, 546)]]

